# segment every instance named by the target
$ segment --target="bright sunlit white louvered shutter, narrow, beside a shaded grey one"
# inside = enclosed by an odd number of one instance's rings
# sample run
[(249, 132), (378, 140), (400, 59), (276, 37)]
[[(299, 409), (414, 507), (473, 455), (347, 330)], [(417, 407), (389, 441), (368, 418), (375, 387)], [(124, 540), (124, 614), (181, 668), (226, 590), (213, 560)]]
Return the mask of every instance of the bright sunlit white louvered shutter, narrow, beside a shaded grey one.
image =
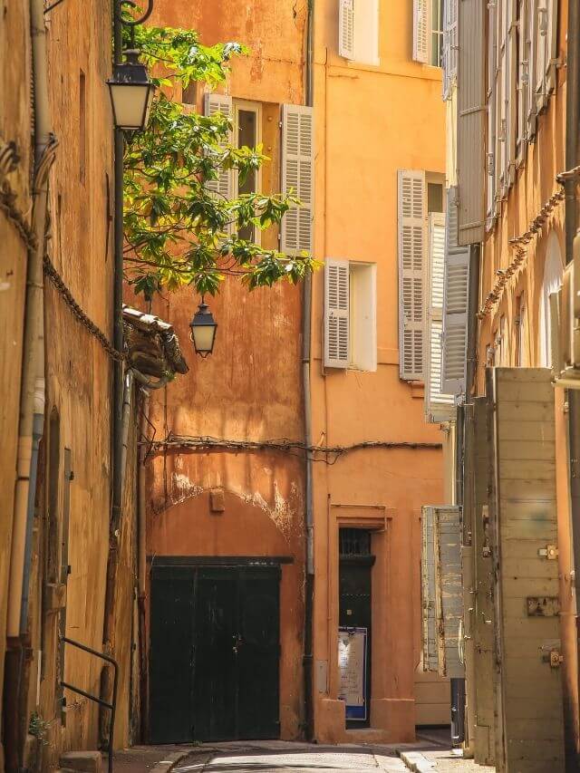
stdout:
[(429, 222), (429, 311), (426, 336), (425, 420), (449, 421), (455, 413), (453, 395), (441, 391), (441, 353), (443, 338), (443, 274), (445, 255), (445, 217), (430, 215)]

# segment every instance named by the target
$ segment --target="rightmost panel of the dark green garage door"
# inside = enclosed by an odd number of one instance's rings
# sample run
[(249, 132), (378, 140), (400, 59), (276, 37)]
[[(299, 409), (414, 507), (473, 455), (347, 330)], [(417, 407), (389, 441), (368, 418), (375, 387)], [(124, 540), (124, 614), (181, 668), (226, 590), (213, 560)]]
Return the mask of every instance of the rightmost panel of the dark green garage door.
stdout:
[(238, 738), (280, 735), (278, 664), (280, 570), (242, 572), (239, 605)]

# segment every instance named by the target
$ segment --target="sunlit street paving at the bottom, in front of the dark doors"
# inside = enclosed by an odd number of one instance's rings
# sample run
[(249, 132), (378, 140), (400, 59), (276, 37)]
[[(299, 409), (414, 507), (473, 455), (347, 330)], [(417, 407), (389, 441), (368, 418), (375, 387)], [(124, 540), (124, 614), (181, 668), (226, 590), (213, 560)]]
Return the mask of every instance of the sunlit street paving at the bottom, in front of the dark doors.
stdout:
[[(204, 749), (208, 749), (204, 747)], [(394, 747), (316, 746), (277, 743), (216, 749), (208, 762), (192, 754), (173, 773), (403, 773)]]

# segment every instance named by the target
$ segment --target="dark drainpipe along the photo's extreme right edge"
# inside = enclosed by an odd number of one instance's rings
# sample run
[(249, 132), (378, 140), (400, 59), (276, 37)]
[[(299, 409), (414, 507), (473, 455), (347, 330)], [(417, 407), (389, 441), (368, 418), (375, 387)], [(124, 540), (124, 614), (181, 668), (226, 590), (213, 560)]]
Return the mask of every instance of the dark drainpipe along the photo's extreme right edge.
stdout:
[[(566, 116), (565, 116), (565, 168), (573, 169), (580, 163), (580, 7), (577, 2), (568, 4), (567, 63), (566, 63)], [(577, 179), (565, 181), (565, 262), (570, 263), (576, 251), (580, 251), (580, 234), (577, 225)], [(566, 391), (568, 401), (568, 438), (570, 453), (570, 510), (574, 554), (576, 600), (576, 648), (580, 652), (580, 392)], [(580, 697), (580, 674), (576, 700)], [(577, 754), (575, 739), (565, 739), (566, 768), (575, 766)], [(575, 759), (569, 759), (570, 757)], [(577, 768), (574, 768), (577, 769)]]

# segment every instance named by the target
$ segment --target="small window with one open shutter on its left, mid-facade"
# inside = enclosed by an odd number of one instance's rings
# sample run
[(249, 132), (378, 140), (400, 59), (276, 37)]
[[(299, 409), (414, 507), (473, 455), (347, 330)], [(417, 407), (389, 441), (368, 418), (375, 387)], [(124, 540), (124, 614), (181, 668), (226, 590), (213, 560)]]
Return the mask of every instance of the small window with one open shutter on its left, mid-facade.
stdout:
[(376, 266), (324, 264), (324, 366), (376, 371)]

